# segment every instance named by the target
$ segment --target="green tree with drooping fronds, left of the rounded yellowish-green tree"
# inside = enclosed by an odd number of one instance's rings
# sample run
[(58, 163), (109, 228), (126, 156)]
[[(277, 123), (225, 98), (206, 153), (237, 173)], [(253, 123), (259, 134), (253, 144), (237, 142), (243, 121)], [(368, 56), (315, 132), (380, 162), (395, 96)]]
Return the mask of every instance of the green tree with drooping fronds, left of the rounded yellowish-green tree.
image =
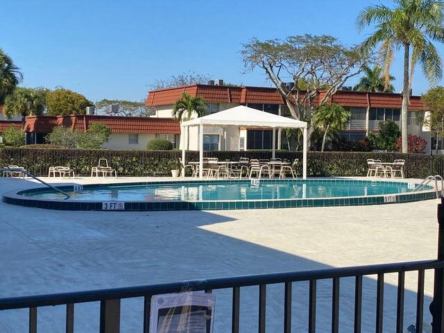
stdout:
[(45, 88), (15, 88), (12, 94), (5, 100), (3, 113), (6, 118), (13, 116), (22, 117), (22, 127), (25, 117), (35, 115), (40, 116), (46, 109), (46, 94), (49, 92)]

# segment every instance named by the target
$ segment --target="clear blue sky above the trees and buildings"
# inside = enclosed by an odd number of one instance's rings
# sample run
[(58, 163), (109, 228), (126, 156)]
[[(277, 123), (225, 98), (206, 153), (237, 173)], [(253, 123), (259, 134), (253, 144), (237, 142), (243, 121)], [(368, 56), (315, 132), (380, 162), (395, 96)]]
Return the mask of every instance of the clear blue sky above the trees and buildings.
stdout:
[[(308, 0), (281, 8), (263, 0), (2, 0), (0, 47), (22, 69), (24, 86), (62, 86), (92, 101), (139, 101), (157, 78), (185, 71), (269, 85), (259, 69), (243, 74), (242, 42), (311, 33), (355, 44), (370, 32), (358, 33), (357, 13), (375, 3)], [(401, 73), (398, 56), (397, 91)], [(413, 93), (428, 87), (418, 67)]]

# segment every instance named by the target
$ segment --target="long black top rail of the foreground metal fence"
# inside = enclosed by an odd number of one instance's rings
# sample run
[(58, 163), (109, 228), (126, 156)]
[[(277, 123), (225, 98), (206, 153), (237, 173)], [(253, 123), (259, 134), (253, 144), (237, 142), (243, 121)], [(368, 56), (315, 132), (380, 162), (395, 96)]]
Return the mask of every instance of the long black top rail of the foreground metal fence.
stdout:
[(332, 278), (348, 278), (353, 276), (377, 275), (438, 268), (444, 268), (444, 261), (434, 259), (416, 262), (397, 262), (392, 264), (350, 266), (296, 272), (244, 275), (210, 280), (190, 280), (164, 284), (151, 284), (137, 287), (74, 291), (69, 293), (53, 293), (37, 296), (21, 296), (12, 298), (1, 298), (0, 310), (22, 309), (26, 307), (46, 307), (82, 302), (96, 302), (101, 300), (116, 300), (122, 298), (137, 298), (147, 295), (153, 296), (160, 293), (230, 289), (237, 287), (251, 287), (261, 284), (325, 280)]

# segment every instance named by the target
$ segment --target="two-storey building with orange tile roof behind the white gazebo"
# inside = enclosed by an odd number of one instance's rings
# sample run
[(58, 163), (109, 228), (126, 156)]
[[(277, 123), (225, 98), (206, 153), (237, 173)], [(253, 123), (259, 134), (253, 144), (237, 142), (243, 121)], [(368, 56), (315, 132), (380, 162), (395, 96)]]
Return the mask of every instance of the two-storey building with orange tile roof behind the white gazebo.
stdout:
[[(173, 103), (187, 92), (191, 96), (200, 96), (208, 105), (208, 113), (219, 112), (237, 105), (291, 117), (289, 109), (278, 90), (271, 87), (249, 87), (230, 85), (186, 85), (148, 92), (146, 105), (155, 109), (154, 117), (171, 117)], [(318, 105), (325, 92), (315, 99)], [(395, 121), (400, 125), (402, 94), (379, 92), (356, 92), (339, 90), (328, 103), (342, 105), (350, 111), (351, 118), (341, 136), (348, 140), (358, 140), (371, 132), (377, 132), (379, 123), (386, 120)], [(427, 128), (423, 128), (421, 119), (425, 112), (420, 96), (411, 96), (409, 101), (409, 133), (420, 135), (427, 140), (428, 152), (432, 139)], [(271, 130), (257, 128), (218, 129), (206, 128), (204, 148), (219, 150), (248, 150), (271, 148)], [(197, 133), (190, 133), (189, 148), (197, 149)], [(296, 142), (290, 142), (294, 146)], [(286, 136), (278, 135), (278, 148), (287, 148)]]

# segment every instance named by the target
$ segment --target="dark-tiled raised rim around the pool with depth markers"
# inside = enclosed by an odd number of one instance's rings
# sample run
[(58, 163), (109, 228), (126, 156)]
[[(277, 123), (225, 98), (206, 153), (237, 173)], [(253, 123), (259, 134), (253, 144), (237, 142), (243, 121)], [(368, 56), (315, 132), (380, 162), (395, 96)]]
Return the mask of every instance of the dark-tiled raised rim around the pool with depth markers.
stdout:
[[(375, 183), (388, 182), (393, 185), (406, 181), (393, 180), (366, 180), (354, 178), (309, 178), (309, 182), (355, 182), (355, 183)], [(301, 179), (261, 179), (261, 182), (303, 182)], [(110, 186), (131, 186), (131, 185), (162, 185), (162, 184), (194, 184), (211, 183), (223, 184), (230, 182), (251, 182), (251, 180), (161, 180), (148, 182), (113, 182), (101, 184), (80, 185), (88, 187), (110, 187)], [(418, 182), (409, 182), (418, 185)], [(58, 189), (74, 190), (76, 185), (58, 185)], [(430, 186), (429, 186), (430, 187)], [(352, 206), (352, 205), (384, 205), (395, 203), (409, 203), (413, 201), (429, 200), (436, 198), (436, 191), (427, 189), (425, 191), (399, 193), (399, 194), (378, 194), (374, 196), (343, 196), (334, 198), (285, 198), (285, 199), (257, 199), (257, 200), (212, 200), (212, 201), (182, 201), (182, 200), (151, 200), (151, 201), (119, 201), (119, 200), (62, 200), (62, 199), (35, 199), (22, 196), (24, 192), (32, 193), (42, 191), (46, 187), (35, 187), (19, 191), (10, 191), (2, 196), (2, 202), (23, 207), (35, 207), (48, 210), (69, 210), (69, 211), (113, 211), (113, 212), (146, 212), (146, 211), (175, 211), (175, 210), (250, 210), (250, 209), (271, 209), (271, 208), (296, 208), (296, 207), (330, 207), (330, 206)], [(442, 191), (438, 191), (439, 196)], [(108, 205), (105, 205), (108, 204)]]

